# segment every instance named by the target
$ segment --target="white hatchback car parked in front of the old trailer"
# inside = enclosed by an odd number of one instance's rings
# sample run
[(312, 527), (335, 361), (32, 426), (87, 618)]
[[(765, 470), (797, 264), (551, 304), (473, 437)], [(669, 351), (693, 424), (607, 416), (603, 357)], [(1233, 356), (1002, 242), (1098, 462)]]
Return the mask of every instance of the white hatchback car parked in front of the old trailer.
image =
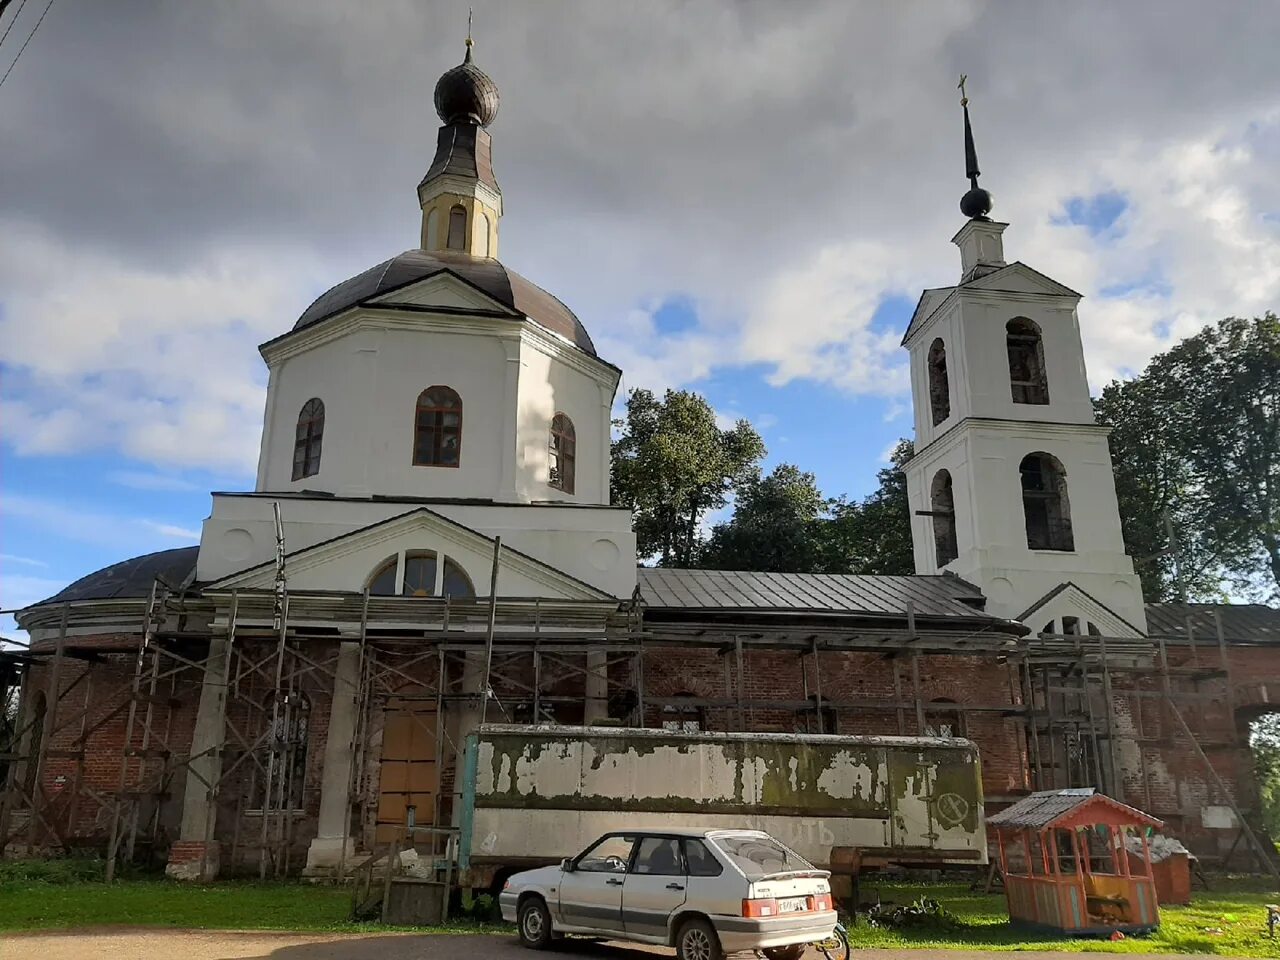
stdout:
[(739, 950), (799, 960), (836, 925), (829, 877), (760, 831), (620, 831), (517, 873), (499, 904), (535, 950), (585, 933), (673, 946), (678, 960)]

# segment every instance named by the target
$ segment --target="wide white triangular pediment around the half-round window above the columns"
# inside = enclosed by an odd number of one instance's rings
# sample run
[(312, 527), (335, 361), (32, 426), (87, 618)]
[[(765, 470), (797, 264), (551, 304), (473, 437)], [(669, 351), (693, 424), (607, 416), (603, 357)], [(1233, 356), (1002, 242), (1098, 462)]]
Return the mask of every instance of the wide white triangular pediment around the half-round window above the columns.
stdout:
[[(475, 585), (476, 595), (484, 596), (489, 593), (493, 543), (492, 538), (421, 507), (287, 553), (284, 570), (291, 590), (360, 591), (388, 558), (402, 550), (433, 550), (461, 566)], [(225, 576), (207, 584), (206, 589), (268, 590), (274, 582), (273, 561)], [(500, 554), (498, 595), (564, 600), (614, 599), (544, 561), (511, 548), (503, 548)]]

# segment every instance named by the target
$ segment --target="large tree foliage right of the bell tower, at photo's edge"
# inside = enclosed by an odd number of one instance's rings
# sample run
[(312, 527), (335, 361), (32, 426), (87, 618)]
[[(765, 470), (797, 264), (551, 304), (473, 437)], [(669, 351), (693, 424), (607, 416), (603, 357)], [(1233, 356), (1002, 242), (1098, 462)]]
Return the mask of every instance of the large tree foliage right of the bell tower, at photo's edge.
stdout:
[[(1228, 319), (1094, 402), (1147, 599), (1280, 589), (1280, 319)], [(1175, 543), (1170, 541), (1172, 527)]]

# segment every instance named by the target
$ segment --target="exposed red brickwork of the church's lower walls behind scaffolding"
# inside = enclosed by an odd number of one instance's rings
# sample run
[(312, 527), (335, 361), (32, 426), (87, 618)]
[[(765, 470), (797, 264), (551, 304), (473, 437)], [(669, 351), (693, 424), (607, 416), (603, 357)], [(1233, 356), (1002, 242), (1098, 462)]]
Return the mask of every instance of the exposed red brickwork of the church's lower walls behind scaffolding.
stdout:
[[(56, 846), (93, 846), (105, 850), (110, 833), (115, 801), (120, 795), (120, 769), (128, 726), (129, 687), (133, 678), (134, 658), (127, 650), (128, 636), (111, 635), (78, 641), (93, 649), (101, 658), (87, 663), (67, 658), (59, 686), (65, 695), (58, 708), (58, 730), (50, 740), (49, 755), (40, 782), (45, 791), (42, 819), (36, 824), (37, 845), (50, 841)], [(279, 847), (278, 831), (287, 836), (289, 870), (301, 868), (306, 859), (307, 844), (316, 833), (320, 806), (320, 782), (332, 708), (332, 678), (338, 652), (338, 641), (311, 640), (306, 657), (315, 667), (303, 667), (293, 680), (293, 695), (305, 696), (310, 710), (306, 721), (305, 772), (298, 782), (296, 814), (273, 819), (269, 823), (269, 847)], [(223, 751), (224, 769), (233, 769), (225, 777), (218, 804), (215, 840), (223, 874), (256, 869), (261, 856), (262, 817), (255, 810), (261, 796), (261, 768), (255, 759), (244, 756), (247, 750), (261, 745), (261, 737), (270, 723), (274, 666), (269, 663), (274, 641), (237, 641), (228, 677), (230, 695), (227, 707), (227, 745)], [(436, 686), (438, 657), (431, 653), (404, 648), (394, 654), (379, 650), (376, 660), (366, 664), (375, 684), (366, 703), (362, 730), (362, 749), (356, 751), (356, 804), (352, 810), (352, 836), (357, 845), (369, 849), (374, 838), (380, 783), (380, 756), (383, 717), (387, 701), (397, 694), (431, 691)], [(193, 648), (183, 655), (200, 662), (205, 650)], [(1207, 644), (1193, 655), (1185, 648), (1171, 648), (1170, 666), (1175, 669), (1171, 681), (1175, 689), (1199, 690), (1201, 700), (1190, 704), (1179, 701), (1188, 723), (1196, 730), (1206, 753), (1212, 759), (1219, 776), (1231, 791), (1236, 803), (1251, 808), (1257, 801), (1252, 758), (1244, 732), (1253, 717), (1280, 704), (1280, 649), (1262, 646), (1229, 648), (1233, 686), (1230, 691), (1221, 677), (1204, 677), (1197, 685), (1178, 671), (1190, 667), (1216, 668), (1219, 653)], [(255, 666), (256, 664), (256, 666)], [(264, 666), (266, 664), (266, 666)], [(543, 709), (562, 723), (581, 722), (585, 658), (570, 654), (561, 658), (545, 657), (543, 662)], [(644, 663), (644, 689), (646, 696), (645, 724), (658, 726), (671, 714), (664, 714), (655, 700), (694, 696), (721, 700), (719, 705), (703, 709), (699, 722), (713, 731), (809, 731), (818, 732), (815, 710), (769, 709), (746, 707), (739, 710), (737, 698), (748, 700), (817, 700), (820, 685), (824, 710), (822, 730), (840, 733), (906, 733), (923, 732), (914, 709), (914, 684), (911, 655), (886, 657), (878, 653), (820, 654), (814, 669), (812, 657), (801, 658), (790, 650), (753, 650), (744, 657), (742, 676), (739, 677), (737, 658), (732, 650), (723, 654), (713, 649), (663, 649), (650, 653)], [(1021, 716), (1023, 691), (1014, 667), (988, 654), (931, 655), (922, 654), (916, 662), (920, 698), (936, 709), (925, 714), (925, 727), (950, 724), (956, 732), (972, 739), (982, 756), (983, 787), (988, 804), (998, 805), (1004, 799), (1036, 788), (1032, 773), (1032, 746), (1025, 733)], [(172, 671), (156, 690), (151, 705), (151, 749), (166, 749), (168, 759), (147, 759), (141, 799), (137, 804), (137, 836), (151, 836), (155, 824), (155, 849), (141, 846), (140, 856), (150, 855), (155, 861), (191, 863), (200, 858), (197, 841), (177, 842), (182, 814), (182, 794), (187, 786), (183, 765), (192, 742), (192, 726), (201, 694), (201, 675), (197, 668), (180, 668), (170, 662), (161, 671)], [(634, 662), (617, 657), (609, 667), (611, 716), (634, 721), (635, 700), (626, 689), (634, 686)], [(91, 680), (90, 680), (91, 676)], [(33, 667), (28, 675), (28, 690), (45, 691), (49, 668)], [(532, 716), (531, 659), (497, 657), (492, 686), (497, 701), (490, 701), (490, 721), (525, 721)], [(451, 657), (445, 692), (445, 736), (456, 741), (457, 716), (467, 709), (477, 710), (479, 701), (462, 696), (463, 664)], [(1147, 696), (1137, 695), (1139, 691)], [(1185, 736), (1164, 709), (1164, 687), (1158, 672), (1140, 671), (1116, 673), (1114, 677), (1112, 709), (1120, 733), (1115, 754), (1123, 783), (1123, 799), (1149, 810), (1169, 823), (1169, 831), (1202, 854), (1222, 854), (1235, 841), (1236, 831), (1207, 827), (1203, 820), (1206, 808), (1220, 806), (1224, 799), (1204, 769), (1203, 762), (1187, 742)], [(78, 714), (88, 703), (88, 713)], [(434, 707), (428, 698), (429, 708)], [(832, 709), (831, 701), (904, 701), (902, 708), (859, 705)], [(950, 707), (947, 701), (954, 701)], [(294, 700), (297, 703), (297, 700)], [(1096, 691), (1089, 704), (1097, 716), (1105, 716), (1106, 704)], [(970, 709), (965, 709), (970, 708)], [(982, 709), (975, 709), (982, 708)], [(1005, 709), (1002, 709), (1005, 708)], [(146, 724), (146, 705), (138, 708), (134, 718), (133, 748), (141, 748)], [(1044, 704), (1038, 703), (1043, 710)], [(1060, 708), (1065, 710), (1062, 701)], [(681, 714), (685, 717), (692, 714)], [(79, 755), (83, 742), (83, 755)], [(1042, 744), (1042, 750), (1044, 745)], [(1106, 751), (1102, 745), (1100, 750)], [(74, 753), (72, 753), (74, 751)], [(261, 759), (261, 753), (259, 753)], [(138, 774), (143, 760), (131, 758), (125, 776), (124, 797), (128, 801), (138, 791)], [(28, 776), (18, 765), (19, 785)], [(279, 782), (279, 780), (276, 780)], [(77, 790), (78, 785), (78, 790)], [(155, 787), (163, 787), (159, 792)], [(443, 818), (449, 818), (452, 773), (445, 773), (442, 801)], [(125, 803), (122, 817), (122, 842), (127, 841), (133, 808)], [(14, 823), (22, 826), (18, 817)], [(13, 826), (13, 824), (12, 824)], [(26, 833), (19, 838), (26, 838)], [(1245, 865), (1243, 844), (1236, 854), (1238, 867)]]

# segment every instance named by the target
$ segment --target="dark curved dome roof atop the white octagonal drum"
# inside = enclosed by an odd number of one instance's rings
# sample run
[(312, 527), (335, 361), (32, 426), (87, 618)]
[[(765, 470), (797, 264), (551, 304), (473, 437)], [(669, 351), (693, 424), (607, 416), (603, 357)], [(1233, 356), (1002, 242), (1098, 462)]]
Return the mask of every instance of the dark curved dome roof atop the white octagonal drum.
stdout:
[[(530, 283), (515, 270), (508, 270), (490, 257), (474, 257), (457, 251), (406, 250), (399, 256), (384, 260), (365, 273), (343, 280), (316, 298), (306, 308), (294, 330), (317, 324), (348, 307), (365, 303), (374, 297), (425, 280), (439, 273), (451, 273), (465, 283), (493, 297), (503, 306), (527, 316), (530, 320), (568, 338), (593, 357), (595, 344), (573, 311), (561, 303), (541, 287)], [(390, 306), (384, 302), (381, 306)]]

